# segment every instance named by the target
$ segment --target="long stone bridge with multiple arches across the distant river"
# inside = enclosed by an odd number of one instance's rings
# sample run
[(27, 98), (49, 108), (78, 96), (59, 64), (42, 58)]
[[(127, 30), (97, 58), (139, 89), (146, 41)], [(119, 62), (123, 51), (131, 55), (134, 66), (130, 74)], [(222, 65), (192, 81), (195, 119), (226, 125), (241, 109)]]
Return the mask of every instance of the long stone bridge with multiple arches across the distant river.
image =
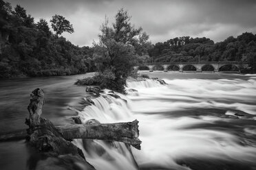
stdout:
[[(202, 72), (204, 66), (210, 66), (211, 71), (219, 72), (222, 66), (231, 65), (234, 66), (237, 72), (240, 72), (240, 68), (242, 68), (242, 64), (240, 62), (152, 62), (143, 65), (143, 67), (147, 67), (150, 72), (158, 67), (162, 67), (164, 72), (169, 71), (170, 66), (176, 66), (178, 71), (183, 72), (185, 66), (192, 66), (194, 70), (197, 72)], [(135, 66), (134, 69), (140, 70), (141, 66)]]

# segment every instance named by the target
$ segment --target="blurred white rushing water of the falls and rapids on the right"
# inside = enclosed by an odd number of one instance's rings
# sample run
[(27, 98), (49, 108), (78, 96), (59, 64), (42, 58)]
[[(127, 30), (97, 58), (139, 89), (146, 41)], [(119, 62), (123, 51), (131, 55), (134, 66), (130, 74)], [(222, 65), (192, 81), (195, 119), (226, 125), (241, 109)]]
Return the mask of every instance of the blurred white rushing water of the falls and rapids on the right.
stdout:
[[(117, 93), (122, 99), (106, 95), (105, 90), (92, 99), (95, 105), (78, 115), (83, 123), (89, 119), (100, 123), (138, 119), (142, 149), (131, 151), (140, 168), (256, 167), (255, 77), (164, 81), (167, 85), (156, 80), (128, 82), (128, 95)], [(74, 143), (96, 169), (138, 169), (123, 143)]]

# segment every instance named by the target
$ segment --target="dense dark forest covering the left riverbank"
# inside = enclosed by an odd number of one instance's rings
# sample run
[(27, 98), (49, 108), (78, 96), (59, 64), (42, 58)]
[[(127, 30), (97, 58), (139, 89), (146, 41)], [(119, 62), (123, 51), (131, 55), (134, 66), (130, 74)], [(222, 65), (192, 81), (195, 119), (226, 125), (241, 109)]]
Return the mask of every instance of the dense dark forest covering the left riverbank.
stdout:
[[(34, 18), (17, 5), (0, 0), (0, 78), (72, 75), (94, 71), (92, 49), (77, 47), (61, 35), (74, 32), (63, 16), (53, 16), (50, 31), (44, 19)], [(60, 23), (65, 29), (59, 29)]]

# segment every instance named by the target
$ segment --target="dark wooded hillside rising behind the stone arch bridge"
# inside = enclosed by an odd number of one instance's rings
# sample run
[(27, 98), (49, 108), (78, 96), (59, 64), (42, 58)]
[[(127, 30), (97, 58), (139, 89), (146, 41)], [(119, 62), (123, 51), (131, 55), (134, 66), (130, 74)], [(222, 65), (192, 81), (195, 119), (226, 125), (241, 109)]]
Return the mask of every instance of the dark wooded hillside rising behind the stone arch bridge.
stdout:
[(157, 42), (149, 56), (149, 62), (239, 61), (246, 66), (244, 72), (256, 73), (256, 34), (246, 32), (216, 43), (205, 37), (176, 37)]

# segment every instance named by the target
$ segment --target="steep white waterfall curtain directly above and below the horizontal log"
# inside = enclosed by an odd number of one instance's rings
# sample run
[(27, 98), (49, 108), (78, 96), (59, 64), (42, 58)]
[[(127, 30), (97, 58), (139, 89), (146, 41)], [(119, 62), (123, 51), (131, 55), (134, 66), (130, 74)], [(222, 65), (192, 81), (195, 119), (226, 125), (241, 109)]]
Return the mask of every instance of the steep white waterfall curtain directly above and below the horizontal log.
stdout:
[[(125, 97), (122, 96), (122, 98)], [(92, 101), (94, 105), (87, 106), (83, 111), (78, 112), (82, 123), (86, 123), (89, 119), (96, 119), (100, 123), (132, 120), (131, 111), (123, 99), (101, 95)], [(98, 170), (138, 169), (134, 157), (124, 143), (81, 139), (74, 140), (73, 143), (83, 150), (87, 161)]]

